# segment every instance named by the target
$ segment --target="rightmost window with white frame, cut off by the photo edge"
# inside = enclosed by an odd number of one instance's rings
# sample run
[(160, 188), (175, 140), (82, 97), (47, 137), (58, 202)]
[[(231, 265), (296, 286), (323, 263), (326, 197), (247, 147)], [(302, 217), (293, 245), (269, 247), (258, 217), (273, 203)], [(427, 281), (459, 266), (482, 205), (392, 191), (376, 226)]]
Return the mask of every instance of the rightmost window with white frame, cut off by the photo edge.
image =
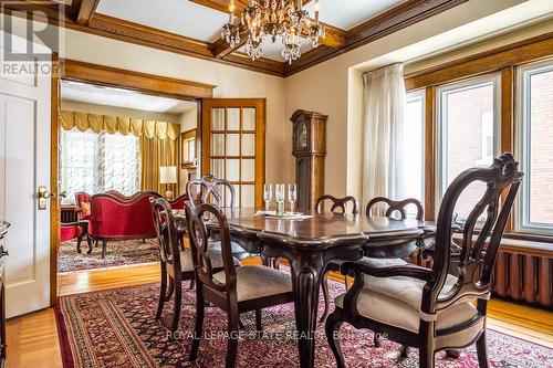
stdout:
[(519, 154), (524, 171), (519, 231), (553, 234), (553, 62), (519, 71)]

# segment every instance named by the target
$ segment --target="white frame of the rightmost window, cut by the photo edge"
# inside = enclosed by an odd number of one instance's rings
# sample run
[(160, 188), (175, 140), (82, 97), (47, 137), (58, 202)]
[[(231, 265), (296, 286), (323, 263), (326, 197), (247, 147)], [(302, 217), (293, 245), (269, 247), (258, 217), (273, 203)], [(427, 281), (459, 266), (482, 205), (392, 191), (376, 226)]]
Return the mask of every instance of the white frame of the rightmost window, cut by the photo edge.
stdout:
[(518, 154), (520, 170), (525, 175), (521, 182), (519, 198), (514, 208), (514, 232), (551, 236), (553, 235), (553, 224), (530, 221), (531, 112), (528, 108), (531, 103), (531, 93), (529, 93), (530, 77), (547, 72), (553, 72), (552, 59), (517, 67), (517, 95), (514, 96), (517, 106), (514, 122), (517, 139), (514, 151)]

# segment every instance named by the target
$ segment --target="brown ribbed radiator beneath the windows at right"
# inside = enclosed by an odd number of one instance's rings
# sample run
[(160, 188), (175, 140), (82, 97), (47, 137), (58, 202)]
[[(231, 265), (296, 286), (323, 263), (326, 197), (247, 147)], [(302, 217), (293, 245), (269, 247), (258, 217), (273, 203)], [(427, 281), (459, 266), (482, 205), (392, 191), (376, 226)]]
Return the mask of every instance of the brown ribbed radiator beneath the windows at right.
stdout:
[[(494, 296), (553, 307), (553, 244), (523, 242), (500, 246), (492, 280)], [(420, 252), (411, 263), (430, 267)]]

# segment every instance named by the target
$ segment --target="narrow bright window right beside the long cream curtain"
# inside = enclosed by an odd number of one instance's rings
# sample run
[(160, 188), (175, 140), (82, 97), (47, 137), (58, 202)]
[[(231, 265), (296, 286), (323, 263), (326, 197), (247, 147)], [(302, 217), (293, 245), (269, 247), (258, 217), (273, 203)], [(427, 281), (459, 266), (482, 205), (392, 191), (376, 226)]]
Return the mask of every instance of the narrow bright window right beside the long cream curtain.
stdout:
[[(425, 194), (425, 91), (407, 94), (404, 118), (404, 198), (424, 200)], [(408, 208), (409, 214), (416, 208)]]

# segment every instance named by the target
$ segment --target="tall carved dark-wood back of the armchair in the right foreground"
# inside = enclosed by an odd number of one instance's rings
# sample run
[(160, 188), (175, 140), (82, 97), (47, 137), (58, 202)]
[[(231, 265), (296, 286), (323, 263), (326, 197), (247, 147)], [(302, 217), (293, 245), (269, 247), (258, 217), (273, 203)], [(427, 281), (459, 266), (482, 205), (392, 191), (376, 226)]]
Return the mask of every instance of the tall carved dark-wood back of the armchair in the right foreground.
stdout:
[[(441, 201), (438, 213), (436, 250), (432, 272), (435, 277), (425, 285), (422, 292), (422, 312), (434, 314), (463, 299), (487, 298), (490, 281), (498, 255), (503, 230), (513, 206), (523, 174), (511, 154), (504, 154), (493, 160), (488, 168), (472, 168), (460, 174), (449, 186)], [(474, 182), (484, 182), (486, 191), (479, 199), (465, 223), (457, 264), (457, 284), (440, 295), (451, 262), (451, 239), (453, 211), (461, 193)], [(505, 193), (501, 204), (501, 196)], [(487, 218), (476, 231), (479, 219), (486, 211)], [(473, 238), (478, 232), (478, 235)], [(484, 250), (484, 243), (488, 245)], [(457, 259), (457, 257), (456, 257)]]

